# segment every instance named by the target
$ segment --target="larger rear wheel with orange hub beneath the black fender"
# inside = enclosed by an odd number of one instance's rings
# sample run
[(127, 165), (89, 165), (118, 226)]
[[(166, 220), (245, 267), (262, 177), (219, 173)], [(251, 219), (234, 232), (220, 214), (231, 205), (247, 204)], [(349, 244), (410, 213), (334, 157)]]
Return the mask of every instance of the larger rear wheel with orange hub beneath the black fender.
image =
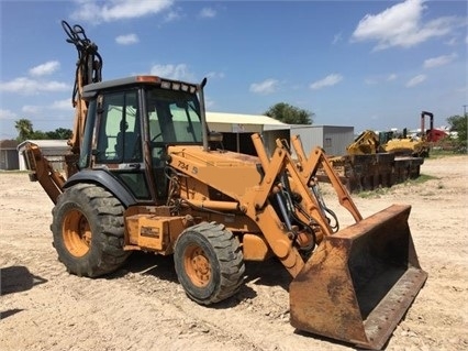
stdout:
[(74, 185), (58, 197), (51, 229), (69, 273), (97, 277), (125, 262), (123, 211), (111, 193), (94, 184)]

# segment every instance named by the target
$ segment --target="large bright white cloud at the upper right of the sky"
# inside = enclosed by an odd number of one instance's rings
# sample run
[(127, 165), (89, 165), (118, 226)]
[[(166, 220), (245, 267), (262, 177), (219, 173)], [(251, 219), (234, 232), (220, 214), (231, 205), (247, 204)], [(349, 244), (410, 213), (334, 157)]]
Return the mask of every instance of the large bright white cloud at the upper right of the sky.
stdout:
[(378, 14), (366, 14), (353, 33), (353, 41), (376, 41), (375, 50), (392, 46), (411, 47), (432, 37), (453, 33), (455, 28), (466, 25), (456, 17), (443, 17), (423, 23), (425, 0), (406, 0)]

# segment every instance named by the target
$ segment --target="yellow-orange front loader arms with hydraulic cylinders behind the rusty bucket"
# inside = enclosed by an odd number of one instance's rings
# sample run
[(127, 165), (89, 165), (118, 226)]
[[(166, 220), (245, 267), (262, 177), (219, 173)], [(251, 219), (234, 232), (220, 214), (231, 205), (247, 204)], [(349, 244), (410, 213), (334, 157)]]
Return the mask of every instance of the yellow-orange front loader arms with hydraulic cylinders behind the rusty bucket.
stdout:
[[(258, 186), (241, 197), (241, 208), (245, 210), (249, 218), (256, 221), (272, 252), (292, 277), (296, 277), (305, 263), (303, 255), (299, 252), (301, 240), (312, 234), (313, 244), (319, 244), (324, 237), (333, 234), (322, 205), (310, 189), (311, 178), (320, 166), (324, 167), (331, 179), (333, 179), (333, 186), (342, 206), (353, 215), (356, 222), (363, 218), (346, 188), (333, 172), (333, 167), (327, 162), (322, 150), (316, 149), (309, 158), (305, 158), (300, 140), (296, 138), (294, 149), (303, 161), (303, 164), (299, 164), (292, 158), (288, 147), (282, 145), (279, 140), (271, 157), (268, 157), (260, 135), (253, 134), (252, 140), (264, 175)], [(285, 178), (281, 178), (281, 175), (287, 176), (288, 184), (285, 184)], [(271, 205), (271, 198), (282, 190), (292, 193), (291, 196), (300, 200), (279, 206), (283, 213), (278, 213), (278, 210)], [(277, 199), (277, 201), (280, 202), (281, 199)], [(291, 217), (302, 222), (302, 231), (288, 223), (288, 210), (286, 209), (288, 205)], [(305, 232), (304, 229), (305, 231), (307, 229), (310, 230)]]

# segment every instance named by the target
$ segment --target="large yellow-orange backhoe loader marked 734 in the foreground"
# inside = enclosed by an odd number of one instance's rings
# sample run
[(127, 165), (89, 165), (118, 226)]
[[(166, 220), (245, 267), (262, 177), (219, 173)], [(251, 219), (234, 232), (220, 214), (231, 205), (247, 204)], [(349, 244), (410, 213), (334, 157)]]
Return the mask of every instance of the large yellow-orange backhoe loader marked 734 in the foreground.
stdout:
[[(102, 81), (96, 44), (81, 26), (63, 28), (78, 50), (66, 175), (37, 145), (24, 156), (55, 204), (54, 246), (69, 273), (108, 274), (132, 251), (171, 254), (188, 297), (210, 305), (242, 288), (245, 261), (277, 257), (292, 278), (293, 327), (385, 345), (427, 277), (408, 224), (411, 206), (364, 219), (323, 150), (307, 155), (297, 136), (268, 154), (254, 134), (257, 156), (219, 147), (204, 113), (205, 79)], [(350, 227), (338, 230), (317, 190), (319, 168)]]

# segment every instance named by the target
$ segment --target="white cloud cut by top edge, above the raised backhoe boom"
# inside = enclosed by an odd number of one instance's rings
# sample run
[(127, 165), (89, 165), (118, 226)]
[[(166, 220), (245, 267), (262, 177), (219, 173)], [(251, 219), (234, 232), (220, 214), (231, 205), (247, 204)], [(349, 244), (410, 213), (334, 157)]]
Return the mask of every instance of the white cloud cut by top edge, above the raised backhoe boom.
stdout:
[(77, 0), (74, 20), (111, 22), (157, 14), (169, 9), (174, 0)]

